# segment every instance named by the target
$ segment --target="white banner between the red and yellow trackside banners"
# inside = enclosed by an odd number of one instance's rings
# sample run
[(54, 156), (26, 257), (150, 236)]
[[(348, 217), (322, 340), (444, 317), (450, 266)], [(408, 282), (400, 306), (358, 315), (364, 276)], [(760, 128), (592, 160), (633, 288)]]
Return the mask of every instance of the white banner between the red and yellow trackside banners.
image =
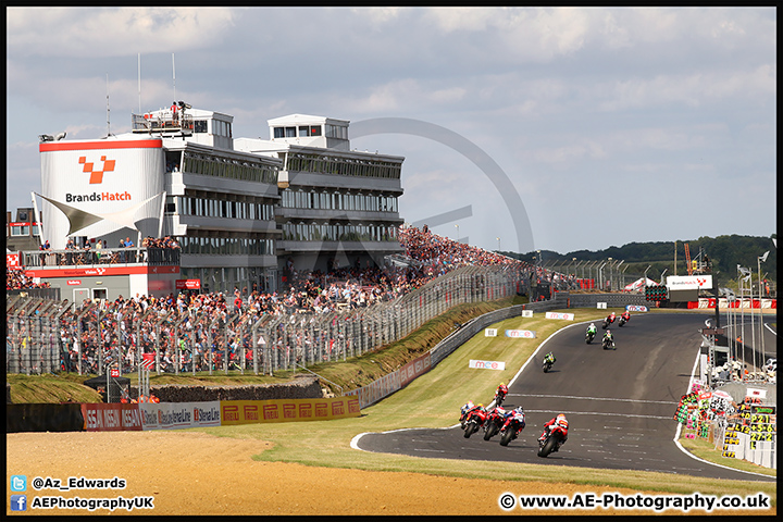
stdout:
[(138, 406), (144, 430), (183, 430), (221, 425), (221, 401), (142, 402)]

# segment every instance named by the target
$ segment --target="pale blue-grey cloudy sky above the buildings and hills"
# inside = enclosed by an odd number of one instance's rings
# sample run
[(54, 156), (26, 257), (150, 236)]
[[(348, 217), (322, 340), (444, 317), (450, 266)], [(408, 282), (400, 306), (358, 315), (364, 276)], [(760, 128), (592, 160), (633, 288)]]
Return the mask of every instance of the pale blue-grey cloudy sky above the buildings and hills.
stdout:
[(348, 120), (406, 158), (406, 221), (486, 249), (769, 236), (776, 40), (773, 8), (8, 8), (7, 210), (40, 191), (38, 135), (176, 98), (235, 137)]

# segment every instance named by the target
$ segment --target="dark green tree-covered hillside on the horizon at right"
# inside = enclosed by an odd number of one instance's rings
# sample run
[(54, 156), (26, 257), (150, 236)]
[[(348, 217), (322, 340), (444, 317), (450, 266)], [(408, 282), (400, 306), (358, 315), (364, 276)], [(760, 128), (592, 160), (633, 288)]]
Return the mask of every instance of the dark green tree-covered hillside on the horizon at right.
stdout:
[[(605, 250), (576, 250), (568, 253), (542, 250), (542, 262), (544, 266), (561, 271), (573, 266), (580, 261), (598, 261), (612, 258), (624, 260), (625, 278), (630, 283), (633, 276), (642, 276), (647, 270), (647, 276), (658, 281), (660, 274), (666, 270), (667, 275), (687, 275), (685, 265), (685, 244), (688, 244), (691, 259), (695, 259), (701, 249), (703, 257), (706, 256), (711, 262), (713, 285), (719, 287), (737, 287), (737, 264), (753, 271), (754, 282), (758, 278), (758, 258), (769, 250), (767, 261), (761, 263), (761, 278), (767, 278), (771, 285), (778, 281), (778, 248), (772, 239), (776, 241), (776, 235), (772, 237), (757, 236), (718, 236), (699, 237), (698, 239), (657, 241), (657, 243), (630, 243), (622, 247), (609, 247)], [(536, 252), (519, 254), (514, 252), (502, 252), (509, 257), (527, 262), (534, 262)], [(674, 259), (676, 256), (676, 270)], [(576, 258), (576, 261), (573, 261)], [(647, 269), (650, 266), (649, 269)], [(579, 273), (577, 273), (579, 275)]]

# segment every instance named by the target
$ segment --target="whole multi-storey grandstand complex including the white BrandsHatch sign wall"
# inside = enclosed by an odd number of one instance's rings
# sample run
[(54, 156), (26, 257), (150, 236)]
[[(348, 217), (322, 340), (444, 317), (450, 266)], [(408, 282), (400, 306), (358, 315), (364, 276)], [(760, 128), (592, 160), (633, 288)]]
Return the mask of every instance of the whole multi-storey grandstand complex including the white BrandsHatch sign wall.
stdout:
[[(51, 250), (25, 252), (22, 269), (63, 298), (273, 291), (291, 268), (382, 265), (402, 251), (403, 158), (350, 151), (347, 121), (293, 114), (268, 122), (270, 139), (235, 139), (233, 116), (183, 102), (132, 117), (119, 136), (41, 136), (34, 212), (47, 219), (30, 221)], [(165, 236), (176, 254), (139, 248)], [(66, 256), (69, 239), (91, 253)]]

